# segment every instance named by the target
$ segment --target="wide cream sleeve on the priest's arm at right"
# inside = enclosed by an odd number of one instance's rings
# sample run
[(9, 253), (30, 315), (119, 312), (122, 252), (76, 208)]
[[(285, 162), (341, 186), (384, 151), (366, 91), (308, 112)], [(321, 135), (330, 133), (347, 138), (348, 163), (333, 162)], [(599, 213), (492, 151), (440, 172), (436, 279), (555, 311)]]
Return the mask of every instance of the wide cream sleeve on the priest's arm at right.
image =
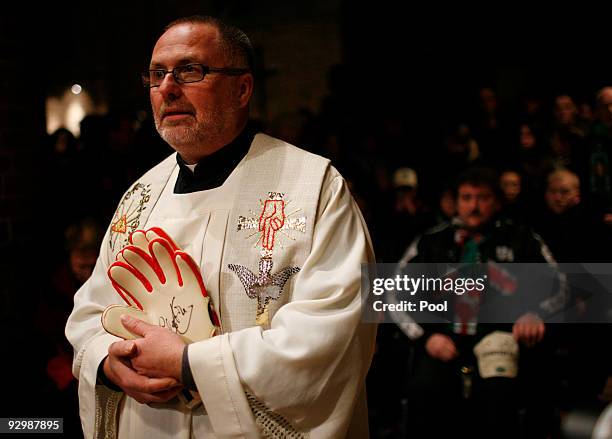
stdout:
[(374, 348), (376, 327), (361, 323), (360, 297), (361, 264), (374, 262), (361, 213), (331, 170), (312, 250), (291, 302), (270, 329), (251, 327), (189, 346), (193, 377), (219, 437), (256, 437), (254, 420), (264, 433), (346, 435)]

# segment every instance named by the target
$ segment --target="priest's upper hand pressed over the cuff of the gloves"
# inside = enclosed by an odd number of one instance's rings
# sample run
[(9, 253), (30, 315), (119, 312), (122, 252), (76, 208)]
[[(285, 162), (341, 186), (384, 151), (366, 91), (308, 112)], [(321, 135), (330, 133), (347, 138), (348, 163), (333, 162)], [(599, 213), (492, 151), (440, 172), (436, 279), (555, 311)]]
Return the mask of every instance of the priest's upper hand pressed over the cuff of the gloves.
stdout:
[(133, 340), (131, 364), (136, 372), (149, 378), (170, 377), (180, 381), (185, 342), (178, 334), (127, 315), (121, 317), (121, 323), (142, 337)]

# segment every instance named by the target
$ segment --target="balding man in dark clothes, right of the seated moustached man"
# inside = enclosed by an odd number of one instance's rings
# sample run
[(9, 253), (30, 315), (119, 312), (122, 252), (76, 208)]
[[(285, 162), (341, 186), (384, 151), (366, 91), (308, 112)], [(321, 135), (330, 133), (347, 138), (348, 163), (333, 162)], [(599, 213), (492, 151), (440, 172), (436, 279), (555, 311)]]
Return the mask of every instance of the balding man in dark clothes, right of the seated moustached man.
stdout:
[(567, 274), (571, 306), (564, 313), (566, 323), (554, 328), (559, 352), (555, 373), (564, 383), (559, 389), (560, 405), (562, 410), (592, 407), (612, 373), (612, 355), (600, 349), (611, 336), (610, 325), (601, 323), (609, 319), (610, 303), (604, 299), (608, 293), (588, 280), (578, 264), (610, 262), (612, 232), (584, 205), (580, 179), (566, 168), (549, 173), (544, 200), (534, 230), (558, 262), (574, 267)]

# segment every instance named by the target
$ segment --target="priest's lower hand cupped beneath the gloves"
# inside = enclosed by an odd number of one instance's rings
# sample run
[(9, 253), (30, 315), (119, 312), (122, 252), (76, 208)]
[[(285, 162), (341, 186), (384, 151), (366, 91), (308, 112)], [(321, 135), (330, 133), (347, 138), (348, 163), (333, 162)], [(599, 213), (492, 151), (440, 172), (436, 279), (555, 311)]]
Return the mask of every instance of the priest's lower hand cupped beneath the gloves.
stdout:
[(181, 383), (174, 378), (149, 378), (138, 374), (130, 366), (130, 358), (135, 353), (133, 341), (118, 341), (110, 345), (104, 360), (104, 374), (126, 395), (147, 404), (169, 401), (181, 391)]

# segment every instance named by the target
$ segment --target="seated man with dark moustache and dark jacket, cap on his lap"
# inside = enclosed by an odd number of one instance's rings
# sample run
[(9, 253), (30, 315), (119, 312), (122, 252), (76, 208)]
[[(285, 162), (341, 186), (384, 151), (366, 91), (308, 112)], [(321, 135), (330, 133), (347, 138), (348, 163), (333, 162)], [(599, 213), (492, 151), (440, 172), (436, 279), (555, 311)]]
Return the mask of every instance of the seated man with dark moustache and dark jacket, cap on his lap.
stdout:
[[(490, 169), (465, 171), (456, 186), (457, 216), (418, 237), (407, 249), (402, 263), (554, 264), (537, 235), (498, 215), (501, 207), (498, 182), (496, 173)], [(490, 291), (491, 288), (486, 294), (491, 294)], [(540, 310), (520, 313), (513, 324), (484, 324), (478, 322), (479, 301), (470, 300), (469, 293), (453, 296), (449, 307), (454, 311), (448, 324), (422, 324), (424, 334), (417, 340), (413, 370), (405, 390), (408, 425), (418, 432), (418, 437), (518, 437), (519, 425), (529, 422), (519, 419), (519, 408), (525, 406), (521, 397), (526, 395), (521, 390), (525, 389), (531, 389), (525, 399), (539, 410), (531, 419), (537, 419), (539, 424), (546, 422), (544, 409), (549, 404), (543, 401), (547, 391), (542, 390), (545, 380), (541, 379), (541, 372), (547, 357), (540, 352), (546, 327), (537, 315)], [(472, 311), (469, 320), (464, 320), (466, 307)], [(513, 349), (520, 346), (518, 376), (516, 365), (514, 372), (498, 368), (483, 373), (480, 358), (477, 361), (474, 355), (474, 347), (497, 330), (507, 331), (505, 339), (496, 336), (506, 347), (489, 353), (501, 352), (515, 358)], [(512, 344), (516, 347), (509, 346)], [(534, 411), (528, 413), (533, 415)], [(532, 428), (532, 433), (534, 428), (545, 430), (539, 425)]]

